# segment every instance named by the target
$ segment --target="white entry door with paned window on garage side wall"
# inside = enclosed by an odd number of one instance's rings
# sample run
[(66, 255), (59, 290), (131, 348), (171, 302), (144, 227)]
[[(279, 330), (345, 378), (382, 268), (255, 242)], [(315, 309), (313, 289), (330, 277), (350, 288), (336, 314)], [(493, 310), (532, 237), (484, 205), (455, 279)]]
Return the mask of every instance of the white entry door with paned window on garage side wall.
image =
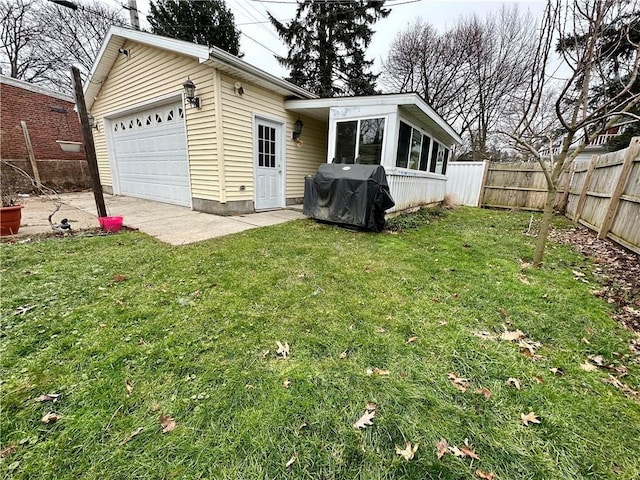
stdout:
[(256, 210), (284, 206), (282, 124), (256, 118), (254, 140)]

